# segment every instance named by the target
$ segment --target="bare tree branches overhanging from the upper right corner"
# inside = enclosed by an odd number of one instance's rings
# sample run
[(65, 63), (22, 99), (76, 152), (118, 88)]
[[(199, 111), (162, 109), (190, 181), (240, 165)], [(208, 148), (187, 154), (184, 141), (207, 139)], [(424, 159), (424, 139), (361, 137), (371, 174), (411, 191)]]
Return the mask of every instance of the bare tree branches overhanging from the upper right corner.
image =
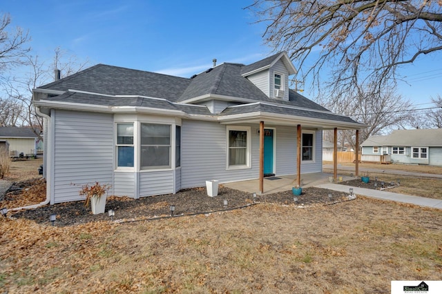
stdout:
[(442, 49), (440, 0), (256, 0), (248, 8), (267, 25), (266, 43), (286, 50), (301, 75), (319, 86), (319, 73), (331, 71), (334, 95), (361, 84), (378, 92), (398, 66)]

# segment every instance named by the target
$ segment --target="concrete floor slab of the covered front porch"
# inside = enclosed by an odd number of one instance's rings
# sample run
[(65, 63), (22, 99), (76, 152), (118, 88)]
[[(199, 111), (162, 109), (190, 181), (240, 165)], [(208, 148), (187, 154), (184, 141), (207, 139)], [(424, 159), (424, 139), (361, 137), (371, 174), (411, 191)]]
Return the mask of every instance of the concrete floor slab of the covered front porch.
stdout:
[[(316, 186), (319, 184), (329, 183), (329, 177), (334, 177), (332, 173), (307, 173), (302, 174), (300, 177), (301, 187), (308, 188), (311, 186)], [(339, 177), (338, 177), (339, 179)], [(354, 177), (343, 176), (343, 181), (349, 179), (354, 179)], [(296, 186), (296, 175), (283, 175), (276, 177), (265, 177), (265, 193), (262, 195), (278, 193), (283, 191), (291, 190), (292, 187)], [(249, 181), (231, 182), (223, 184), (227, 188), (232, 188), (236, 190), (241, 190), (247, 193), (257, 193), (259, 191), (259, 179), (251, 179)]]

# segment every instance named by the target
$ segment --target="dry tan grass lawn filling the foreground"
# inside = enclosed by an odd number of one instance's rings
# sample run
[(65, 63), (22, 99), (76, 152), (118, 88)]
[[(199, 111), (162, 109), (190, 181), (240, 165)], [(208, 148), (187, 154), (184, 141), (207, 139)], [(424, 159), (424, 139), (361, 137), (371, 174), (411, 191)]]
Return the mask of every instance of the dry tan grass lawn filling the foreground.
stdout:
[(68, 227), (1, 217), (0, 232), (7, 293), (390, 293), (442, 277), (442, 210), (365, 197)]

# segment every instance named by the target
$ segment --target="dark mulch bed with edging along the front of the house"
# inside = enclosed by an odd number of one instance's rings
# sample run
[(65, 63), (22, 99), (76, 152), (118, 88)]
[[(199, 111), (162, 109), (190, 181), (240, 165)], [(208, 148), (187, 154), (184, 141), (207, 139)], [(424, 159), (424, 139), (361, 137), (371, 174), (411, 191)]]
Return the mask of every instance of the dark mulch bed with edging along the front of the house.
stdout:
[[(17, 192), (15, 192), (16, 194)], [(332, 197), (330, 198), (329, 195)], [(298, 196), (296, 206), (334, 204), (347, 199), (347, 196), (345, 193), (323, 188), (304, 188), (302, 195)], [(7, 194), (7, 197), (13, 197), (13, 195)], [(227, 199), (227, 206), (224, 206), (224, 199)], [(133, 222), (142, 219), (170, 217), (171, 205), (175, 205), (174, 215), (176, 217), (244, 208), (258, 202), (278, 205), (295, 204), (291, 191), (257, 195), (255, 202), (253, 202), (253, 195), (221, 185), (216, 197), (206, 195), (205, 188), (184, 189), (175, 195), (159, 195), (140, 199), (111, 196), (106, 201), (106, 213), (99, 215), (93, 215), (90, 208), (84, 206), (83, 201), (46, 205), (35, 209), (11, 212), (10, 215), (15, 218), (31, 219), (39, 224), (50, 224), (50, 215), (56, 214), (55, 226), (72, 226), (87, 222), (109, 221), (111, 219), (107, 213), (109, 209), (115, 210), (115, 222)]]

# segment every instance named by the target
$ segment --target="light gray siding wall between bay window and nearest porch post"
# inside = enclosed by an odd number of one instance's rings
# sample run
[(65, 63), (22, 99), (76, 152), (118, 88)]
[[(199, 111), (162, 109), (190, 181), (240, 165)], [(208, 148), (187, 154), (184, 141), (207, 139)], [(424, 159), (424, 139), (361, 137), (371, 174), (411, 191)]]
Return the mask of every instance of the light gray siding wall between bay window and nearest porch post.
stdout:
[(205, 186), (208, 179), (233, 182), (258, 177), (259, 140), (256, 129), (251, 128), (251, 168), (227, 170), (226, 126), (217, 122), (183, 120), (181, 188)]

